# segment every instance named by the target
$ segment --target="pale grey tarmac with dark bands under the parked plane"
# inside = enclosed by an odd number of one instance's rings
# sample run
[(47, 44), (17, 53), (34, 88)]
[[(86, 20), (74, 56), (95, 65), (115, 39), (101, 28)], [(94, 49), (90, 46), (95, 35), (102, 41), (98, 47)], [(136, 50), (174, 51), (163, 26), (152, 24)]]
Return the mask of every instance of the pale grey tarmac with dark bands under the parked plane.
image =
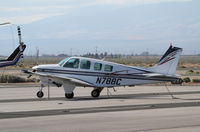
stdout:
[[(77, 87), (73, 99), (63, 88), (0, 84), (0, 132), (199, 132), (200, 86)], [(49, 97), (48, 97), (49, 93)]]

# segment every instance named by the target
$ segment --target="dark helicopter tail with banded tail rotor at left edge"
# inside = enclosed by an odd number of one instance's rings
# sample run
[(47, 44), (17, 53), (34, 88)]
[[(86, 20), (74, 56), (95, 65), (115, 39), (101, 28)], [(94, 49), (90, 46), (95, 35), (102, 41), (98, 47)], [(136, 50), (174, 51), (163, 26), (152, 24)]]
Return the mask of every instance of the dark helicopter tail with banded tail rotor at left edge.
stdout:
[(19, 46), (13, 51), (10, 56), (7, 57), (7, 59), (0, 60), (0, 67), (16, 65), (20, 58), (23, 58), (23, 52), (26, 48), (26, 45), (21, 41), (21, 30), (19, 26), (17, 27), (17, 30), (19, 36)]

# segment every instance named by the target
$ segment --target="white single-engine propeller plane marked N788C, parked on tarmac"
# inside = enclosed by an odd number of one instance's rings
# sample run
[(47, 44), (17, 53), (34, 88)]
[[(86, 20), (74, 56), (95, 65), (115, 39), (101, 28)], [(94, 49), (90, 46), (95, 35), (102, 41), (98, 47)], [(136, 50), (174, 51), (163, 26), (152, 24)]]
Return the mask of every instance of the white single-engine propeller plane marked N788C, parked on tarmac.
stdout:
[[(37, 97), (42, 98), (45, 86), (64, 87), (65, 97), (72, 99), (76, 86), (93, 87), (91, 96), (99, 97), (101, 91), (119, 86), (135, 86), (160, 82), (181, 83), (175, 75), (182, 48), (173, 47), (153, 67), (134, 67), (85, 57), (68, 57), (58, 64), (38, 65), (32, 71), (23, 70), (40, 78)], [(29, 77), (30, 77), (29, 76)]]

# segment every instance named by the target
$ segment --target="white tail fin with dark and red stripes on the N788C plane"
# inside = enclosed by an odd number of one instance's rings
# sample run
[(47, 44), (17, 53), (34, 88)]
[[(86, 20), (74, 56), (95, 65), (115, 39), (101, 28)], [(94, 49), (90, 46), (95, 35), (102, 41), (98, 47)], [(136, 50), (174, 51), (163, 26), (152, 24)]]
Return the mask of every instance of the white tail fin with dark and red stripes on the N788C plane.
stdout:
[(169, 49), (158, 61), (158, 63), (150, 69), (157, 73), (174, 75), (181, 53), (182, 48), (170, 45)]

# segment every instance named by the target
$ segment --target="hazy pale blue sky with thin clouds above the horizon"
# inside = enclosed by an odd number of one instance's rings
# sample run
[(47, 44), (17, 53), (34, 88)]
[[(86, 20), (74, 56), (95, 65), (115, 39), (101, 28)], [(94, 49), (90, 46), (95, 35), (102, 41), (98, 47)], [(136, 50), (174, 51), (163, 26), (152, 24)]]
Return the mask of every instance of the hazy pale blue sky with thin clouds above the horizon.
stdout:
[[(87, 52), (162, 54), (169, 43), (200, 53), (199, 0), (6, 0), (0, 4), (0, 54), (17, 46), (25, 54)], [(14, 38), (14, 40), (13, 40)]]

